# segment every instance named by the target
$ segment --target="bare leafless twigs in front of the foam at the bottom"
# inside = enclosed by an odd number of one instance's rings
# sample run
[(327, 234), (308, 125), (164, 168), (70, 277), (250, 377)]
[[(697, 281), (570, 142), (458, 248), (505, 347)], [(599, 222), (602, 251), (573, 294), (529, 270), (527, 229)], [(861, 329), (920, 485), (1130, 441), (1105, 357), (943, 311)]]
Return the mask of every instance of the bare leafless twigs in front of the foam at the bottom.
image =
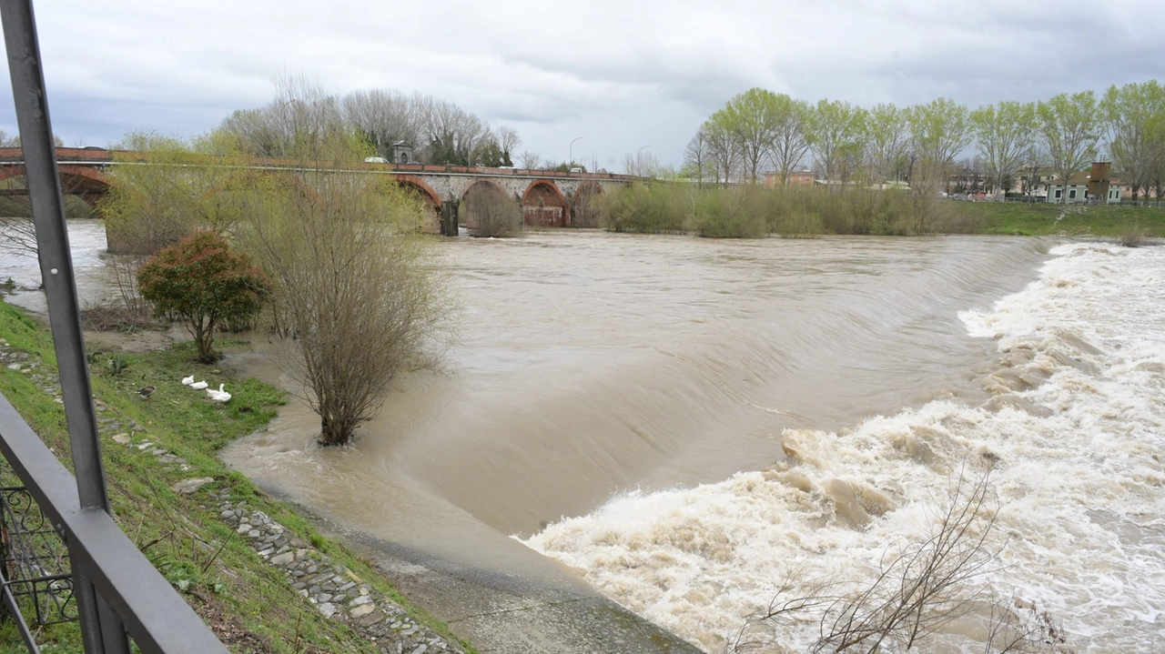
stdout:
[(785, 583), (768, 609), (748, 618), (729, 651), (756, 649), (767, 628), (806, 618), (819, 628), (810, 652), (925, 651), (946, 625), (976, 616), (988, 623), (988, 654), (1067, 652), (1062, 631), (1050, 616), (1033, 610), (1035, 619), (1026, 619), (1015, 611), (1014, 599), (991, 595), (986, 577), (1002, 569), (998, 555), (1005, 539), (996, 535), (998, 502), (990, 472), (990, 463), (980, 474), (963, 470), (939, 506), (930, 535), (888, 548), (871, 582)]

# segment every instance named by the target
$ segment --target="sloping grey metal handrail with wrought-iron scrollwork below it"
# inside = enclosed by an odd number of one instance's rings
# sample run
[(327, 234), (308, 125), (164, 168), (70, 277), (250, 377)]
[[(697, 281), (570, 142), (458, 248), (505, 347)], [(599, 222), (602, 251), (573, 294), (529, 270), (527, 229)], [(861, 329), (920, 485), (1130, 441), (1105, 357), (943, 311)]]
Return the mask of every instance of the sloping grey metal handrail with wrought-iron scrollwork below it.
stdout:
[[(77, 479), (2, 394), (0, 454), (20, 479), (0, 489), (0, 589), (29, 652), (40, 652), (34, 630), (78, 617), (76, 570), (84, 570), (142, 652), (226, 652), (113, 518), (80, 506)], [(33, 614), (33, 627), (22, 609)]]

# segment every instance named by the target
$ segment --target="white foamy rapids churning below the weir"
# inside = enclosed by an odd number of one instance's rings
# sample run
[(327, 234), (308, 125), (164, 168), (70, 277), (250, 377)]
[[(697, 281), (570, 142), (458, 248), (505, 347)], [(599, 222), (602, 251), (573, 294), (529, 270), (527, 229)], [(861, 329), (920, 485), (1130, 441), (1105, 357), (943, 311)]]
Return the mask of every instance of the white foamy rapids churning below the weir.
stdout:
[[(527, 545), (709, 652), (791, 581), (870, 580), (927, 533), (967, 460), (993, 475), (1009, 540), (998, 597), (1060, 620), (1076, 652), (1165, 649), (1165, 248), (1069, 244), (1040, 279), (961, 318), (998, 339), (994, 397), (930, 403), (848, 432), (786, 431), (788, 464), (630, 493)], [(771, 628), (804, 651), (817, 625)], [(927, 651), (982, 652), (954, 625)], [(962, 632), (962, 633), (959, 633)]]

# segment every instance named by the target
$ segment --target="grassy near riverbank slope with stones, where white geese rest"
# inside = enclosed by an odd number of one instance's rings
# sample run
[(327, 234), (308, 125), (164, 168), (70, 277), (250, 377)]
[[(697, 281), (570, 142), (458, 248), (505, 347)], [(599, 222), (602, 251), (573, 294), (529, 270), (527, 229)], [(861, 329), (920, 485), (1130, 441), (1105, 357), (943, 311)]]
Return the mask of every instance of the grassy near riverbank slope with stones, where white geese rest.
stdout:
[[(69, 465), (69, 438), (57, 399), (59, 386), (49, 333), (35, 318), (0, 303), (0, 339), (5, 353), (0, 392)], [(306, 549), (311, 556), (326, 556), (329, 564), (345, 568), (350, 577), (387, 595), (423, 624), (449, 635), (442, 625), (409, 607), (366, 561), (341, 543), (323, 538), (289, 505), (264, 496), (218, 461), (216, 452), (220, 447), (262, 428), (275, 415), (275, 407), (282, 404), (278, 389), (255, 379), (233, 378), (225, 369), (190, 363), (190, 343), (144, 354), (92, 351), (90, 358), (115, 519), (233, 652), (372, 653), (380, 652), (380, 646), (340, 621), (325, 618), (291, 587), (282, 569), (263, 561), (245, 535), (220, 519), (224, 493), (282, 524), (289, 538), (310, 543)], [(112, 358), (125, 364), (119, 374), (108, 365)], [(17, 364), (19, 370), (9, 368)], [(216, 385), (226, 383), (233, 399), (223, 406), (184, 388), (179, 379), (189, 374)], [(157, 388), (149, 400), (136, 394), (146, 385)], [(143, 442), (153, 445), (140, 447)], [(172, 488), (197, 477), (211, 477), (213, 482), (192, 493)], [(48, 644), (49, 651), (80, 651), (75, 623), (47, 627), (38, 640)], [(23, 651), (10, 623), (0, 623), (0, 654)]]

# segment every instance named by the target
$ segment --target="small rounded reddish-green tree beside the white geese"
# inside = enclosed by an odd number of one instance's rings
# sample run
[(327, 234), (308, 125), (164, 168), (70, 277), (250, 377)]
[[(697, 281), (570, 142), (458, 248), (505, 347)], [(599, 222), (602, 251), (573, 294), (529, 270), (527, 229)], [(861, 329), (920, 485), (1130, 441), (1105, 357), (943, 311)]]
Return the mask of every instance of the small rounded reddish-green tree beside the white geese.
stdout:
[(213, 363), (214, 327), (254, 317), (269, 282), (250, 256), (231, 251), (226, 239), (197, 232), (147, 260), (137, 269), (137, 285), (158, 315), (186, 321), (198, 361)]

